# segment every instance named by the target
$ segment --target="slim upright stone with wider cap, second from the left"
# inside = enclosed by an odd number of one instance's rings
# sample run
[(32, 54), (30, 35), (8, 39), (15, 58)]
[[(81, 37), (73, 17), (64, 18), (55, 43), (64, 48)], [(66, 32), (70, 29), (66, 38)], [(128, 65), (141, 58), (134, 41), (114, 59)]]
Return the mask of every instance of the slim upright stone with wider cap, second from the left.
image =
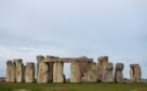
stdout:
[(16, 64), (16, 82), (23, 82), (24, 81), (24, 65), (22, 63), (23, 60), (17, 58), (14, 60)]

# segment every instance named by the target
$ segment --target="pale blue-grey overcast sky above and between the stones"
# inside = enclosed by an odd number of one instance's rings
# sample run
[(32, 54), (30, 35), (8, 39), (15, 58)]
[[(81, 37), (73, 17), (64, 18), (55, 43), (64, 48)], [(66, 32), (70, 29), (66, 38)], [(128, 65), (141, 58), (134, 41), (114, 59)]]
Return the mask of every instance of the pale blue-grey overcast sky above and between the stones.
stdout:
[(124, 77), (138, 63), (147, 78), (147, 0), (0, 0), (0, 76), (6, 60), (38, 54), (108, 55)]

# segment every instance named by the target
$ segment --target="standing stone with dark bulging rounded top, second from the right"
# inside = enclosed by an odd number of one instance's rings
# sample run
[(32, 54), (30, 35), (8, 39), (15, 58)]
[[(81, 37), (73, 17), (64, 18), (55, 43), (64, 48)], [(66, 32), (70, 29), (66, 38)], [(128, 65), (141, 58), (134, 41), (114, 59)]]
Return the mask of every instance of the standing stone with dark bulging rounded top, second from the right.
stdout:
[(122, 70), (124, 68), (123, 63), (117, 63), (115, 69), (115, 81), (116, 82), (123, 82), (123, 74)]

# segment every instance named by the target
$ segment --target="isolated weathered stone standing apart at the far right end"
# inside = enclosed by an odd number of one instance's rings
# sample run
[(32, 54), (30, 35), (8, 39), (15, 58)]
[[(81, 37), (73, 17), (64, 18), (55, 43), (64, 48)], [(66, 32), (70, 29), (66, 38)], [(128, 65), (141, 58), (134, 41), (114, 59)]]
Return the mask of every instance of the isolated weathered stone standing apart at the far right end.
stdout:
[(142, 79), (142, 69), (138, 64), (131, 64), (130, 65), (130, 75), (132, 82), (141, 82)]

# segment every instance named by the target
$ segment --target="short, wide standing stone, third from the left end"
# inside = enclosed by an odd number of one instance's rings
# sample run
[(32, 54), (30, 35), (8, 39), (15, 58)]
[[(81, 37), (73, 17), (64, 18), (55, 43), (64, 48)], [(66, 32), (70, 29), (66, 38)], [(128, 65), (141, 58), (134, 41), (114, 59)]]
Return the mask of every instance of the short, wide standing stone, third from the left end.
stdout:
[(27, 63), (25, 70), (25, 82), (35, 81), (35, 63)]

